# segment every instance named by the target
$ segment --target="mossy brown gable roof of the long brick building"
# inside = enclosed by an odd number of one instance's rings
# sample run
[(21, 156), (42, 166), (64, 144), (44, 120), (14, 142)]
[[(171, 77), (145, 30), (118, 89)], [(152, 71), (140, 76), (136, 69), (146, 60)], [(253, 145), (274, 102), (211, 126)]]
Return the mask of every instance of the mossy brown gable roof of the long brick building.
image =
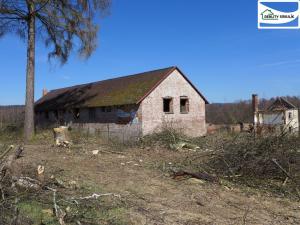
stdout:
[(205, 97), (177, 67), (168, 67), (114, 79), (55, 89), (35, 103), (35, 110), (44, 111), (139, 104), (175, 70), (178, 70), (182, 74), (195, 91), (204, 99), (205, 103), (208, 104)]

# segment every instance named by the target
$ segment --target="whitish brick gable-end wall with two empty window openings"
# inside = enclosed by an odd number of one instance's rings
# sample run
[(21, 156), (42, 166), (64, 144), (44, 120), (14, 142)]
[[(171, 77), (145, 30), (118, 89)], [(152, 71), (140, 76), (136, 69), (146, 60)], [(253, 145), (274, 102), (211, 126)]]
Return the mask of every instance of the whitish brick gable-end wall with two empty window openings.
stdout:
[[(189, 112), (180, 113), (180, 97), (189, 99)], [(173, 98), (173, 113), (163, 112), (163, 98)], [(205, 101), (179, 71), (169, 75), (141, 103), (143, 135), (159, 132), (163, 126), (180, 129), (189, 136), (206, 134)]]

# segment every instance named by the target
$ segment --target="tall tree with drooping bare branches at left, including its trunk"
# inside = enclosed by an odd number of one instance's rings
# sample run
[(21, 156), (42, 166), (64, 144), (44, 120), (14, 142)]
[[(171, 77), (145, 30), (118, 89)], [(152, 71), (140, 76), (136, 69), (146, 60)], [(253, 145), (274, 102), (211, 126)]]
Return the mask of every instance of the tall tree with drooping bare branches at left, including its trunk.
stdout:
[(0, 0), (0, 37), (13, 33), (27, 41), (25, 140), (34, 134), (35, 43), (38, 36), (51, 48), (49, 58), (68, 60), (77, 45), (82, 57), (96, 48), (95, 16), (110, 0)]

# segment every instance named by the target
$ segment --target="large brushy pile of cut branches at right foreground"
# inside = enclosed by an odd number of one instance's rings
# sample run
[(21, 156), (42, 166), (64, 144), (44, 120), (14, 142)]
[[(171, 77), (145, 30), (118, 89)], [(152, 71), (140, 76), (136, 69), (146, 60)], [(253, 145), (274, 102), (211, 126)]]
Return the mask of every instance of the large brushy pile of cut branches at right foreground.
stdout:
[[(279, 190), (300, 198), (300, 138), (287, 135), (253, 137), (241, 134), (216, 151), (207, 166), (221, 177), (253, 184), (279, 184)], [(257, 182), (254, 182), (257, 187)], [(278, 188), (277, 188), (278, 189)]]

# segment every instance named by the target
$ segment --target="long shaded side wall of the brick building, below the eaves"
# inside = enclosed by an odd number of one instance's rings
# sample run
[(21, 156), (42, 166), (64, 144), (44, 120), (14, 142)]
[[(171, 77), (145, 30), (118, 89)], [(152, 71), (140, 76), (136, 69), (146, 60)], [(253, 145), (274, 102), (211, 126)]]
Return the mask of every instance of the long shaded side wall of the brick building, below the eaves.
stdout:
[(36, 120), (38, 127), (66, 125), (107, 139), (129, 141), (136, 140), (142, 135), (138, 109), (138, 105), (126, 105), (111, 107), (111, 111), (108, 112), (99, 107), (93, 109), (91, 117), (91, 109), (81, 108), (79, 118), (74, 116), (74, 110), (58, 110), (58, 113), (48, 112), (48, 119), (45, 112), (37, 113)]

